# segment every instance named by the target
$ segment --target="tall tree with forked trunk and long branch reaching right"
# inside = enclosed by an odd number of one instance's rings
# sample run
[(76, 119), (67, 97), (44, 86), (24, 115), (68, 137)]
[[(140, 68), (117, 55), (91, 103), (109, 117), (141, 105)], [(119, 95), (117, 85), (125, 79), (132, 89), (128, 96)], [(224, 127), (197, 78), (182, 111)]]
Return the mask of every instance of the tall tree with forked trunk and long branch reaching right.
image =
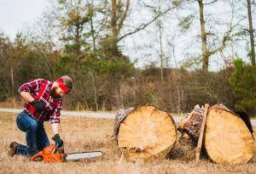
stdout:
[[(143, 1), (137, 1), (136, 3), (141, 3)], [(148, 3), (148, 2), (147, 2)], [(143, 8), (152, 8), (143, 2)], [(131, 12), (131, 2), (130, 0), (111, 0), (109, 5), (109, 32), (106, 36), (102, 38), (102, 48), (107, 49), (105, 52), (111, 53), (108, 57), (112, 57), (115, 60), (124, 59), (121, 50), (119, 49), (119, 42), (124, 40), (127, 36), (131, 36), (139, 31), (143, 31), (148, 27), (148, 25), (153, 24), (160, 16), (168, 13), (174, 7), (167, 7), (160, 13), (154, 14), (154, 16), (148, 20), (139, 23), (138, 25), (132, 25), (129, 21), (140, 20), (139, 18), (131, 19), (129, 18), (129, 13)], [(157, 7), (153, 7), (157, 8)], [(129, 20), (128, 20), (129, 19)]]

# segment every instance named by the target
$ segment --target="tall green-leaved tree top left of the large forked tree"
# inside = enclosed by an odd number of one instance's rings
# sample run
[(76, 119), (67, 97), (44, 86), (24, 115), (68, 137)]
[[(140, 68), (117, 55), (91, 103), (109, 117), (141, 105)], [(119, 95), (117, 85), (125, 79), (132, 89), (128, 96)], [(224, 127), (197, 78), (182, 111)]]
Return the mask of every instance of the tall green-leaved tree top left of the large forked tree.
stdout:
[(91, 10), (84, 4), (83, 0), (59, 1), (56, 17), (61, 28), (61, 40), (66, 42), (67, 52), (74, 51), (80, 54), (81, 48), (86, 48), (86, 35), (88, 31), (84, 28), (91, 18)]

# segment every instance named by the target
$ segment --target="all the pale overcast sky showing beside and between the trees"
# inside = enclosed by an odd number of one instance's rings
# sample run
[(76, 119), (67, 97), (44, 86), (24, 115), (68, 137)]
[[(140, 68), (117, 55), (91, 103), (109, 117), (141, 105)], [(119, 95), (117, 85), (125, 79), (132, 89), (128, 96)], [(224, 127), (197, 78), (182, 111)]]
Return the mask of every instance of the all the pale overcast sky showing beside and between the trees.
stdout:
[[(26, 31), (25, 29), (27, 27), (32, 26), (33, 23), (39, 20), (42, 13), (47, 10), (49, 1), (55, 0), (0, 0), (0, 33), (2, 31), (5, 35), (9, 36), (11, 39), (14, 39), (18, 31)], [(166, 2), (166, 0), (162, 1)], [(131, 3), (136, 3), (136, 1), (131, 1)], [(147, 14), (147, 12), (142, 12), (136, 8), (137, 4), (133, 4), (131, 6), (133, 10), (131, 10), (131, 20), (129, 21), (129, 24), (139, 25), (137, 22), (141, 21), (134, 20), (137, 18), (137, 15), (140, 15), (140, 18), (145, 18), (144, 21), (150, 20), (151, 17)], [(220, 3), (218, 4), (218, 7), (205, 8), (205, 10), (208, 14), (215, 13), (214, 17), (217, 17), (217, 14), (222, 14), (222, 16), (227, 17), (227, 15), (224, 14), (227, 13), (227, 7), (222, 8), (222, 6), (223, 5)], [(197, 8), (198, 7), (195, 3), (194, 7), (191, 6), (186, 8), (185, 11), (183, 11), (183, 14), (189, 14), (189, 10), (192, 12), (196, 11)], [(217, 12), (216, 8), (218, 8)], [(163, 42), (164, 52), (165, 54), (170, 55), (169, 67), (172, 68), (181, 65), (183, 60), (189, 57), (188, 53), (195, 54), (201, 52), (201, 41), (195, 38), (195, 36), (198, 36), (200, 33), (198, 30), (200, 29), (199, 22), (195, 21), (193, 23), (194, 29), (192, 29), (190, 32), (177, 32), (180, 29), (177, 27), (177, 19), (175, 19), (174, 16), (175, 14), (172, 13), (167, 17), (168, 19), (163, 19), (166, 20), (166, 26), (164, 27), (165, 38), (163, 38), (163, 40), (165, 40)], [(226, 30), (225, 25), (223, 25), (220, 26), (218, 32)], [(151, 63), (160, 65), (158, 34), (159, 33), (156, 30), (156, 25), (153, 24), (144, 31), (140, 31), (135, 35), (128, 36), (122, 42), (120, 42), (119, 46), (123, 53), (129, 55), (131, 61), (137, 60), (137, 67), (143, 67), (145, 65), (150, 65)], [(175, 45), (175, 50), (172, 50), (168, 43), (172, 37), (173, 40), (171, 40), (173, 41), (172, 44)], [(191, 47), (191, 45), (193, 45), (193, 47)], [(239, 45), (239, 47), (236, 48), (236, 51), (237, 53), (242, 53), (241, 57), (246, 57), (247, 51), (244, 43), (241, 42), (241, 46)], [(227, 50), (227, 52), (230, 53), (230, 50)], [(224, 60), (223, 58), (220, 58), (220, 55), (218, 54), (212, 56), (210, 61), (212, 61), (210, 62), (210, 70), (219, 70), (224, 67)]]

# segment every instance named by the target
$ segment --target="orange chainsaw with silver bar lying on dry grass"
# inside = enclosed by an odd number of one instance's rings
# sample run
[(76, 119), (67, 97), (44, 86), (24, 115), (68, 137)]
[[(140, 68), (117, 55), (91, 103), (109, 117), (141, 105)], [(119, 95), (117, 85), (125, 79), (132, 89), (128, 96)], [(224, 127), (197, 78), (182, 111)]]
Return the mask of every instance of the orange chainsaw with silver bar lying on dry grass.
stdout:
[(38, 154), (33, 155), (30, 160), (35, 161), (38, 157), (43, 158), (44, 163), (65, 162), (68, 160), (85, 160), (101, 157), (101, 151), (79, 152), (64, 154), (64, 150), (58, 150), (54, 144), (45, 147)]

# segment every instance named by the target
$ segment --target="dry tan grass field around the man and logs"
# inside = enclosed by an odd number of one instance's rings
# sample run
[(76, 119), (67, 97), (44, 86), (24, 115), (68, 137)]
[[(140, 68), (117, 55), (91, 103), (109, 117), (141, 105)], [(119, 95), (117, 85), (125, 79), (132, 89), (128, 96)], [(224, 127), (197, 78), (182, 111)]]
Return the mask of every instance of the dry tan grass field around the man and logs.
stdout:
[[(102, 150), (104, 155), (96, 160), (44, 164), (30, 162), (24, 157), (8, 156), (11, 141), (25, 143), (23, 132), (14, 124), (13, 114), (0, 114), (0, 173), (256, 173), (256, 158), (246, 165), (225, 166), (213, 164), (206, 158), (195, 165), (195, 150), (179, 143), (169, 156), (169, 160), (150, 162), (119, 163), (119, 150), (113, 141), (113, 120), (79, 117), (63, 117), (61, 120), (61, 137), (65, 141), (65, 150), (79, 152), (85, 150)], [(49, 138), (52, 132), (49, 123), (45, 124)], [(256, 135), (255, 135), (256, 136)]]

